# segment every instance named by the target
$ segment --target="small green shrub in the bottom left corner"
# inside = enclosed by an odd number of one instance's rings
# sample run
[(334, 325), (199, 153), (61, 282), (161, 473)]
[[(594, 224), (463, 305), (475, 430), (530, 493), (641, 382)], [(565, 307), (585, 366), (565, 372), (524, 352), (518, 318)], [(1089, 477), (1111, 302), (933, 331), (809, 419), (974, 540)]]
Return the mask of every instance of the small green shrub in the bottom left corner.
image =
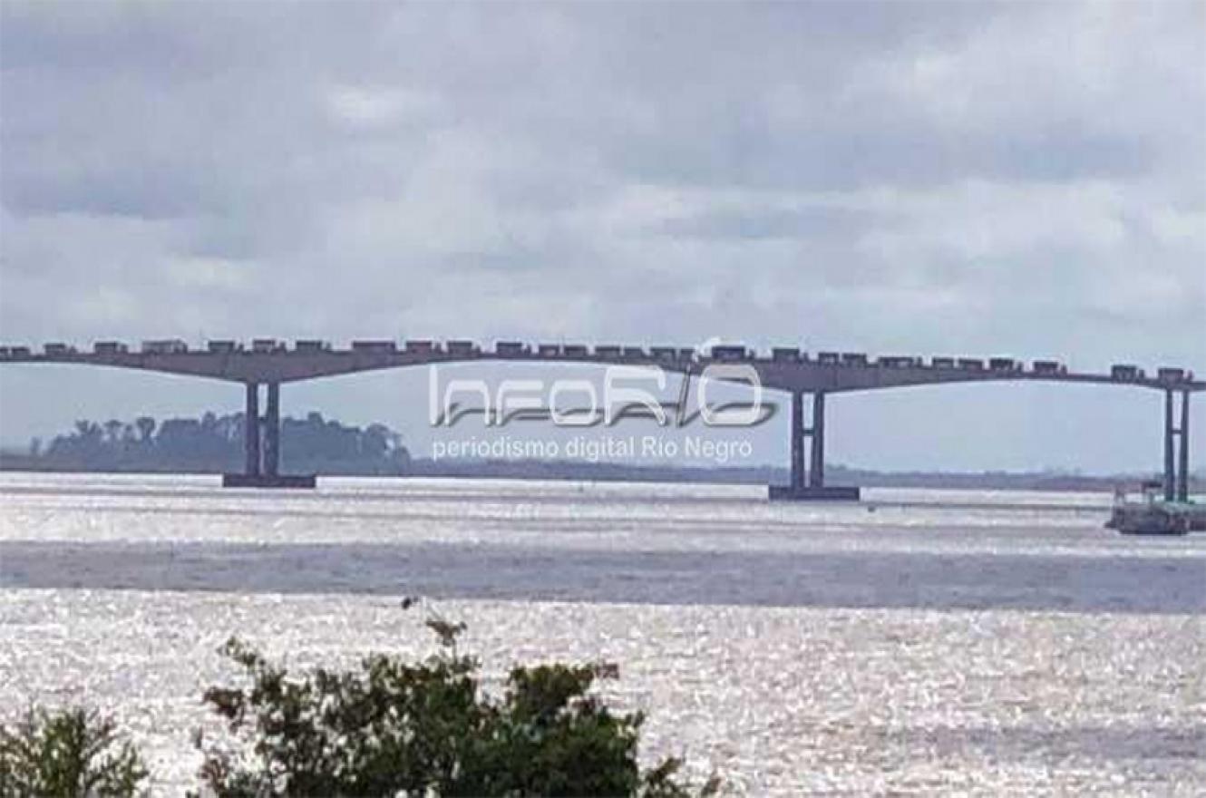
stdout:
[(146, 778), (134, 746), (95, 711), (30, 710), (0, 726), (0, 798), (127, 798)]

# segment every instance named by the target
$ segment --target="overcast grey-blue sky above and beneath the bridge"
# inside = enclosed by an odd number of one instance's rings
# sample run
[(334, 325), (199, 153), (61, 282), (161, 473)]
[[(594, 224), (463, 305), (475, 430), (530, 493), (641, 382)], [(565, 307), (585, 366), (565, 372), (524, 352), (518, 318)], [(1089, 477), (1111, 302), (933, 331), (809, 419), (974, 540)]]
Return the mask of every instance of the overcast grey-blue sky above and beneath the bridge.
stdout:
[[(0, 342), (176, 336), (1206, 374), (1206, 4), (4, 0)], [(282, 401), (425, 454), (427, 380)], [(240, 405), (238, 386), (7, 365), (0, 444)], [(1154, 392), (830, 411), (831, 458), (865, 468), (1160, 462)], [(1192, 426), (1200, 468), (1206, 398)], [(754, 459), (781, 462), (785, 430), (759, 435)]]

